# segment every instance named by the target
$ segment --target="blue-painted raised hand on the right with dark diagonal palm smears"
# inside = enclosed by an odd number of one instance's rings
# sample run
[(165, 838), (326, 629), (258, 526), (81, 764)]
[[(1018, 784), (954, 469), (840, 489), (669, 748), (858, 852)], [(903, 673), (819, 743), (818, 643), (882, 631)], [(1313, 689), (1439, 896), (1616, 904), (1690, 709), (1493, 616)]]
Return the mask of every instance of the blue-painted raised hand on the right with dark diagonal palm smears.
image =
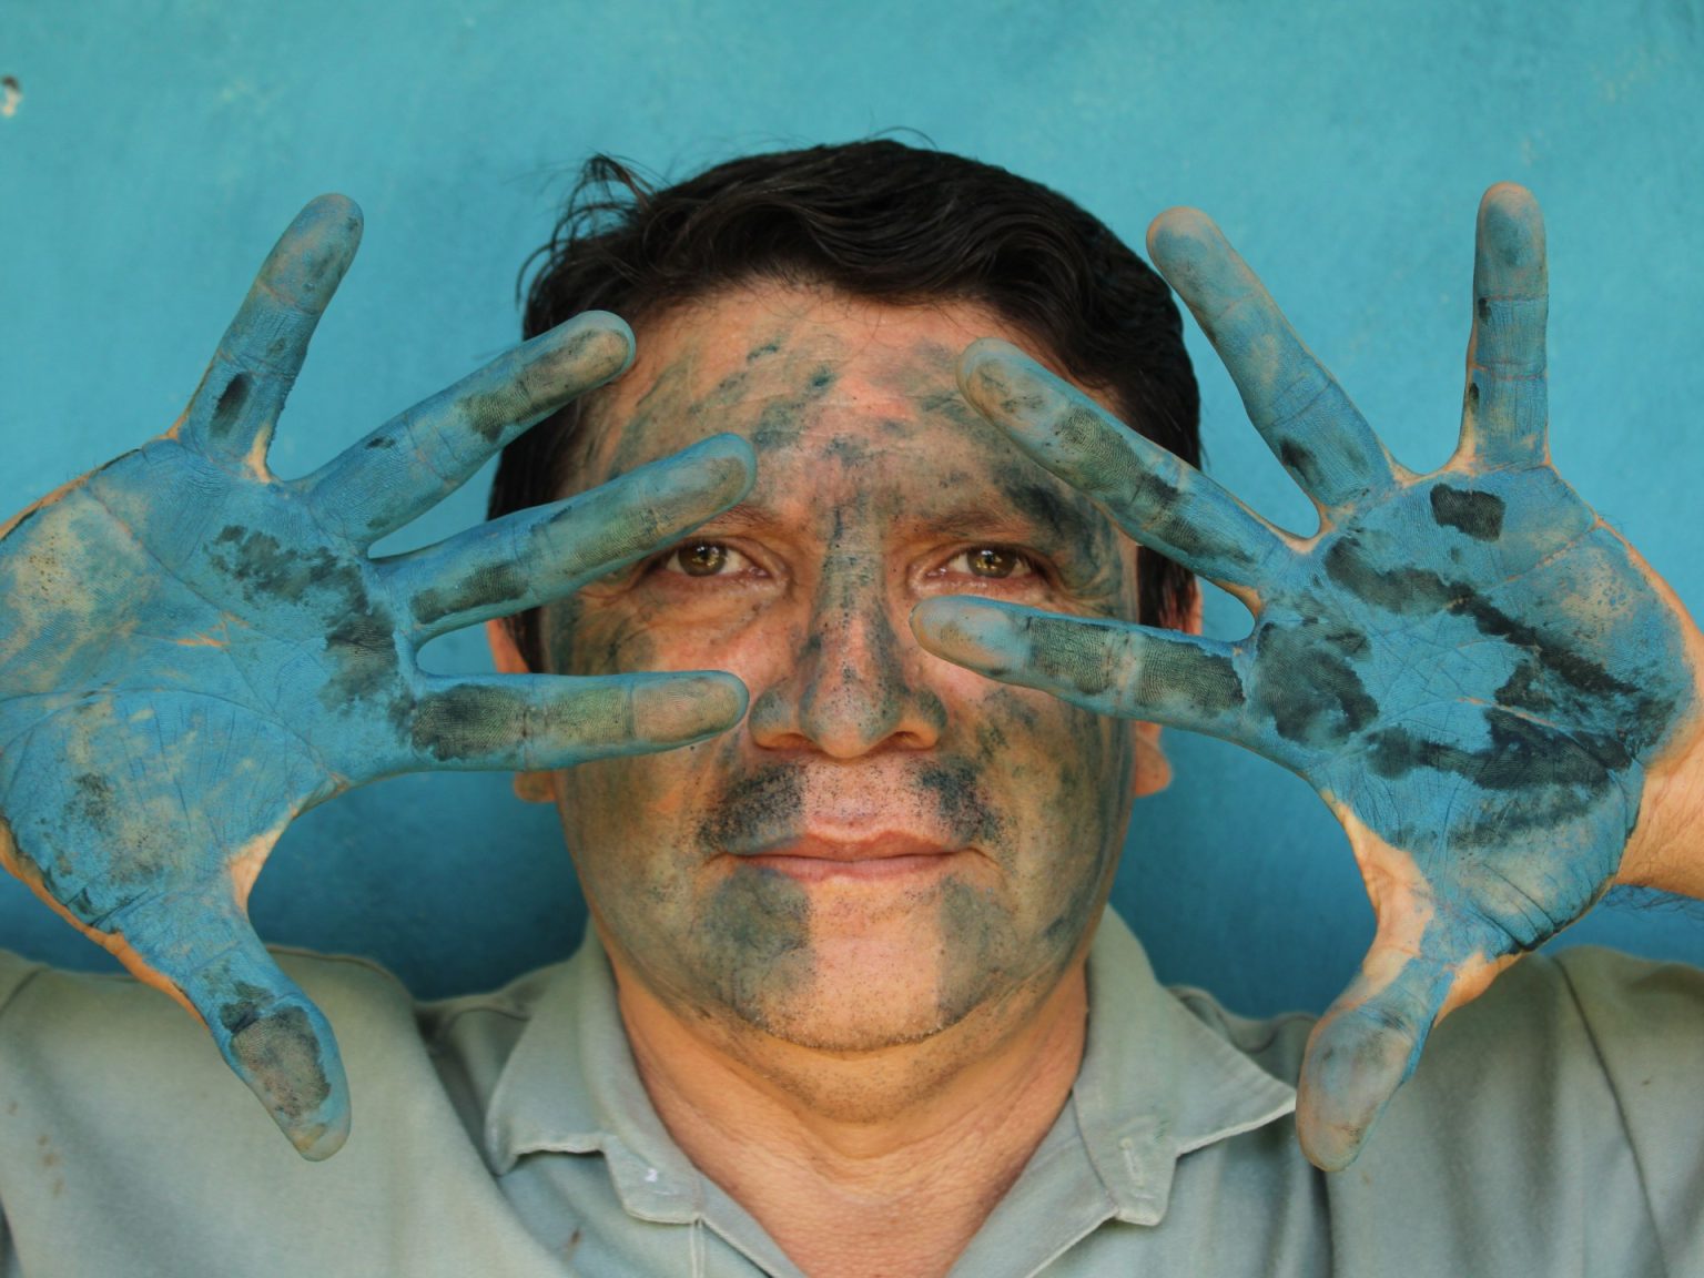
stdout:
[(1701, 641), (1551, 467), (1528, 193), (1481, 204), (1460, 445), (1430, 475), (1390, 460), (1212, 222), (1162, 215), (1148, 250), (1319, 533), (1275, 528), (1016, 349), (978, 343), (966, 397), (1131, 537), (1246, 602), (1254, 629), (1223, 644), (970, 600), (929, 602), (913, 625), (993, 678), (1246, 745), (1331, 804), (1379, 917), (1302, 1068), (1302, 1145), (1338, 1169), (1436, 1019), (1615, 878), (1648, 772), (1699, 731)]

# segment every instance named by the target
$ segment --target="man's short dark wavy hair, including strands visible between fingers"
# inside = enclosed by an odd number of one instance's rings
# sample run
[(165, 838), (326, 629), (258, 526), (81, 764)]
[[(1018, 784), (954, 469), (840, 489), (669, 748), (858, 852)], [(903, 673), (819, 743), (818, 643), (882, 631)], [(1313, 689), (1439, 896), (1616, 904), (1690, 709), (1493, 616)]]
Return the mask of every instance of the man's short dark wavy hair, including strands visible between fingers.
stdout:
[[(639, 329), (753, 281), (898, 307), (978, 303), (1200, 465), (1201, 399), (1166, 283), (1070, 199), (990, 164), (879, 138), (746, 155), (656, 187), (598, 155), (523, 279), (535, 262), (528, 337), (583, 310)], [(569, 404), (503, 450), (491, 518), (564, 492), (584, 411)], [(1147, 547), (1137, 564), (1140, 620), (1181, 624), (1193, 578)], [(508, 625), (527, 665), (544, 670), (538, 610)]]

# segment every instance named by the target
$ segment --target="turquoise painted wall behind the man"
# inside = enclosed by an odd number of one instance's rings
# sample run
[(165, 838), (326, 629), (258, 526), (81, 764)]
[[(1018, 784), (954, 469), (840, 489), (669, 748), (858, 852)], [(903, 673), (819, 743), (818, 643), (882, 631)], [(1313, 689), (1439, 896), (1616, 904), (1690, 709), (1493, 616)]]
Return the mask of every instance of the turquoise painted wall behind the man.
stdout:
[[(0, 114), (0, 511), (167, 426), (320, 191), (361, 203), (366, 244), (279, 429), (283, 474), (515, 339), (516, 268), (588, 152), (685, 174), (907, 126), (1137, 244), (1160, 208), (1206, 208), (1413, 467), (1455, 435), (1479, 193), (1534, 187), (1556, 460), (1704, 608), (1699, 0), (10, 0), (0, 75), (19, 89)], [(1200, 334), (1191, 349), (1213, 472), (1305, 528)], [(477, 520), (482, 496), (475, 481), (390, 549)], [(1212, 632), (1244, 620), (1212, 600)], [(477, 634), (431, 658), (487, 668)], [(1118, 903), (1162, 976), (1246, 1010), (1321, 1007), (1372, 934), (1341, 833), (1254, 757), (1205, 740), (1172, 757)], [(463, 775), (308, 815), (254, 917), (423, 993), (501, 982), (583, 925), (552, 815)], [(1612, 907), (1571, 937), (1704, 961), (1701, 918)], [(10, 881), (0, 944), (106, 964)]]

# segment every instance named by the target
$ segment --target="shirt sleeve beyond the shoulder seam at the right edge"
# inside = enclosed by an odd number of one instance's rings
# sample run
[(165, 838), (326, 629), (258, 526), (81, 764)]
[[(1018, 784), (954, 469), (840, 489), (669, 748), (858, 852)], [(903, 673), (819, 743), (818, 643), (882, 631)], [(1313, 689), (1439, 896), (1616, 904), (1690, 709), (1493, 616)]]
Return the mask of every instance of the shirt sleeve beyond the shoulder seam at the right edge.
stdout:
[(1668, 1273), (1704, 1273), (1704, 971), (1554, 954), (1621, 1109)]

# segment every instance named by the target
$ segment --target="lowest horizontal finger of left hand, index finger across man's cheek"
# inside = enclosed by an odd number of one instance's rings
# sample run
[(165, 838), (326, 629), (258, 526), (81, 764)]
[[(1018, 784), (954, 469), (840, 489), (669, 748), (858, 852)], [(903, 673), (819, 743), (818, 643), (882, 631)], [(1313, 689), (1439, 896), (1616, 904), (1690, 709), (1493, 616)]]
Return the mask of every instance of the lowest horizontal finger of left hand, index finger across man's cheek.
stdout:
[(547, 772), (695, 745), (740, 722), (745, 685), (721, 671), (429, 678), (409, 726), (419, 769)]

